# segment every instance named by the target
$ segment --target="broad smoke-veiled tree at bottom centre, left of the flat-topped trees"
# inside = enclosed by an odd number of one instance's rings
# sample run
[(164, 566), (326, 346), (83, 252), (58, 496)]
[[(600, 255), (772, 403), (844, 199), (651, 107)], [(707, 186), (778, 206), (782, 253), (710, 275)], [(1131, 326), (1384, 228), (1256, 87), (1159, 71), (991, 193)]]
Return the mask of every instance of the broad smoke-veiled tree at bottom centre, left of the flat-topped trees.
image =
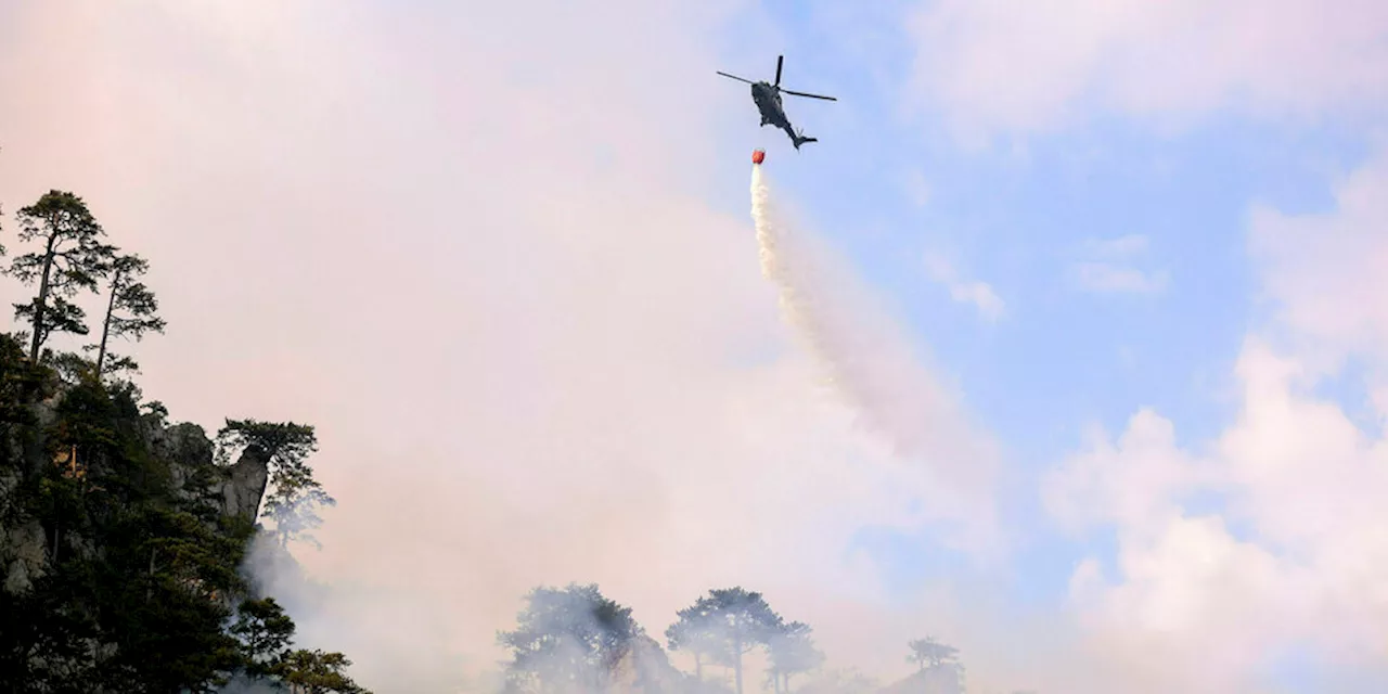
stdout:
[(644, 636), (632, 608), (608, 600), (595, 584), (537, 587), (516, 622), (497, 641), (511, 651), (508, 683), (518, 691), (597, 691), (632, 641)]

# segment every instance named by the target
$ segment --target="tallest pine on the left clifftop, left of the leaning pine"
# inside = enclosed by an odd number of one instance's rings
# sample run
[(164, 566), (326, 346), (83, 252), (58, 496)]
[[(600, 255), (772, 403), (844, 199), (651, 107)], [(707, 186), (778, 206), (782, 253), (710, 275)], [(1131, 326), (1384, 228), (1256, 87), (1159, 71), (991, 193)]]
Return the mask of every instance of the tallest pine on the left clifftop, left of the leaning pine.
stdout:
[(105, 230), (86, 203), (67, 192), (50, 190), (18, 212), (19, 240), (37, 242), (40, 250), (15, 257), (8, 273), (25, 285), (37, 283), (37, 294), (14, 304), (15, 318), (31, 329), (29, 359), (56, 332), (86, 335), (86, 314), (69, 300), (81, 290), (96, 291), (110, 272), (112, 248), (100, 243)]

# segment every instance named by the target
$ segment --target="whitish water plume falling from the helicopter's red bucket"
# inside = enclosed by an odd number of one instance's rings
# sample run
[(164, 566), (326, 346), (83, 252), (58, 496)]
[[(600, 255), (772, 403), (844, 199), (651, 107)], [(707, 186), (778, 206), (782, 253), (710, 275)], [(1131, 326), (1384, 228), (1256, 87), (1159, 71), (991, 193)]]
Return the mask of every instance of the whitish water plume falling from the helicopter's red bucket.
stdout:
[(967, 436), (956, 396), (931, 376), (877, 301), (837, 272), (809, 236), (790, 232), (761, 165), (752, 167), (751, 193), (762, 273), (776, 285), (786, 322), (818, 358), (833, 396), (898, 458), (962, 493), (947, 497), (981, 502), (994, 483), (995, 451), (980, 444), (985, 437)]

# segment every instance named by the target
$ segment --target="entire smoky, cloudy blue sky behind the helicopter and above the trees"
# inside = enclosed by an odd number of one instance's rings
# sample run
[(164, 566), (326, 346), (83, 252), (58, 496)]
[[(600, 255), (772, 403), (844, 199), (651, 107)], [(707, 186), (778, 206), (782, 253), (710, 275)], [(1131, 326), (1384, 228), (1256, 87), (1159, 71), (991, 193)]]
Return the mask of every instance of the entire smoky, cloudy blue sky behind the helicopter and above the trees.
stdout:
[[(779, 54), (838, 97), (799, 151), (715, 75)], [(285, 590), (365, 686), (579, 580), (652, 633), (762, 590), (884, 679), (933, 634), (970, 691), (1362, 693), (1385, 97), (1373, 0), (8, 0), (0, 205), (150, 260), (175, 419), (318, 428)], [(761, 275), (754, 147), (867, 405)]]

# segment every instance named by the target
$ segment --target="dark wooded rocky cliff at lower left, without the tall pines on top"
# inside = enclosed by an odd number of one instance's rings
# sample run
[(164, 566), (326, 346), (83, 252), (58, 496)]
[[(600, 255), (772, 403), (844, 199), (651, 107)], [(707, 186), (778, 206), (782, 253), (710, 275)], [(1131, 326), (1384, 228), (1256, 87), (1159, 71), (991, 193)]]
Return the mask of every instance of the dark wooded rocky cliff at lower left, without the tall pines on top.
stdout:
[(0, 335), (0, 691), (207, 691), (271, 477), (129, 382), (33, 365)]

